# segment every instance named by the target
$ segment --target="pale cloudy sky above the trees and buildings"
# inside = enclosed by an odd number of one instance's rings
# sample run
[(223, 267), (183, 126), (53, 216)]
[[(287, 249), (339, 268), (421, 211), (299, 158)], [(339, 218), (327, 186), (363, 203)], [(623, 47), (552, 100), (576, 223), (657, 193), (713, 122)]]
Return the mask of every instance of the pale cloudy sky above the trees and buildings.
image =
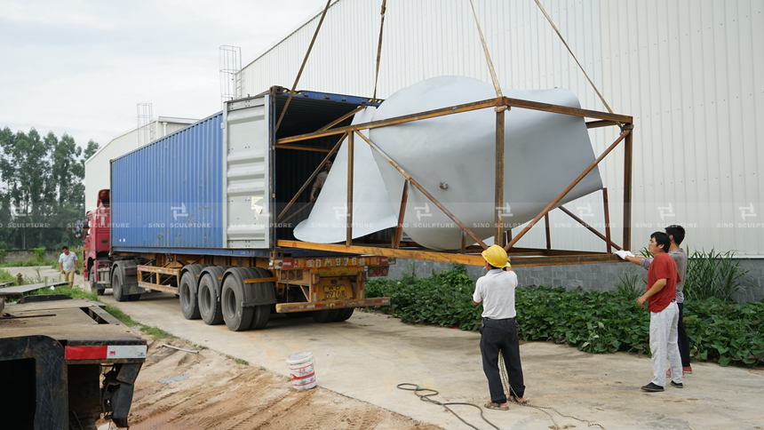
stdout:
[[(101, 147), (154, 116), (221, 108), (219, 47), (243, 65), (325, 5), (322, 0), (3, 0), (0, 128), (64, 133)], [(297, 70), (295, 70), (297, 74)]]

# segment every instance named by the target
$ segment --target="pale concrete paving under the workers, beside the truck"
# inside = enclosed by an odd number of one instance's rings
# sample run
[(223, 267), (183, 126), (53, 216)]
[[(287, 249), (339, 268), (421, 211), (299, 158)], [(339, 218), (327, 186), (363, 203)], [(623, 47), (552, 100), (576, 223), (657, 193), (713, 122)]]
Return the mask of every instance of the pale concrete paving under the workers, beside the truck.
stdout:
[[(409, 382), (432, 388), (440, 392), (436, 400), (441, 402), (488, 401), (477, 332), (404, 324), (360, 311), (345, 323), (331, 324), (272, 315), (266, 330), (232, 332), (225, 325), (187, 321), (172, 294), (148, 293), (137, 302), (117, 304), (107, 290), (102, 299), (140, 323), (283, 375), (288, 374), (288, 355), (310, 351), (320, 386), (447, 429), (468, 427), (442, 407), (419, 402), (415, 394), (395, 386)], [(521, 345), (521, 358), (532, 404), (609, 430), (764, 429), (764, 370), (693, 362), (685, 388), (667, 386), (664, 393), (649, 394), (640, 390), (652, 378), (646, 356), (586, 354), (530, 342)], [(491, 428), (474, 408), (452, 408), (474, 426)], [(586, 427), (553, 410), (516, 405), (508, 411), (488, 410), (485, 416), (502, 430)]]

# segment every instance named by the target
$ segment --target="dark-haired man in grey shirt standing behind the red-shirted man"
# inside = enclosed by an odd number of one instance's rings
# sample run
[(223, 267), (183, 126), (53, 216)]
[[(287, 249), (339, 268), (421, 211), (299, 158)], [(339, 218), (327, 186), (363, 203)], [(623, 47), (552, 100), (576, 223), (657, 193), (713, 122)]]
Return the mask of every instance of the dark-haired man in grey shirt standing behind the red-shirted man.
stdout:
[[(677, 273), (679, 274), (680, 282), (676, 284), (676, 305), (679, 307), (679, 321), (677, 322), (677, 338), (679, 343), (679, 354), (681, 357), (681, 371), (682, 374), (692, 373), (692, 366), (690, 365), (689, 356), (689, 338), (687, 335), (687, 329), (684, 325), (684, 280), (687, 276), (687, 252), (680, 248), (680, 244), (684, 240), (685, 231), (681, 226), (669, 226), (665, 227), (665, 233), (671, 239), (671, 247), (669, 247), (669, 255), (672, 257), (674, 263), (676, 263)], [(634, 264), (638, 264), (641, 267), (650, 267), (653, 259), (644, 259), (635, 256), (627, 255), (628, 251), (617, 251), (619, 257), (627, 261), (631, 261)], [(624, 255), (622, 255), (622, 253)], [(671, 370), (666, 370), (666, 376), (671, 376)]]

